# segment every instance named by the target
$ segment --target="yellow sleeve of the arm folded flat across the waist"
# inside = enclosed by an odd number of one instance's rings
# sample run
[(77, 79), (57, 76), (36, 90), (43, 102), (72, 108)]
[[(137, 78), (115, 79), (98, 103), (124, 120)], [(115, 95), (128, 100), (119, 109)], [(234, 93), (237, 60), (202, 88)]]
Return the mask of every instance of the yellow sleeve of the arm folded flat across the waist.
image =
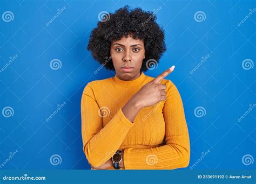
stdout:
[(163, 107), (165, 145), (154, 148), (125, 148), (125, 169), (176, 169), (187, 167), (190, 161), (190, 140), (183, 103), (176, 86), (166, 83)]

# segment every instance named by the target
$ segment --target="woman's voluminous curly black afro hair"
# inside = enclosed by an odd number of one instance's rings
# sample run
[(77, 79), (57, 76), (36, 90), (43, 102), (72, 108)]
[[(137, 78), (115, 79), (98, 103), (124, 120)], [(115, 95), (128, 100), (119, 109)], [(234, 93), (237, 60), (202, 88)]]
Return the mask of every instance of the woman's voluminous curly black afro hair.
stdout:
[[(158, 63), (161, 55), (166, 51), (164, 31), (156, 23), (156, 19), (154, 12), (140, 8), (130, 9), (127, 5), (114, 13), (107, 13), (104, 20), (99, 21), (97, 27), (92, 30), (87, 50), (91, 51), (93, 59), (101, 65), (114, 70), (110, 56), (112, 41), (120, 40), (124, 36), (143, 40), (145, 59), (140, 70), (146, 71), (149, 69), (146, 61), (154, 60)], [(110, 59), (106, 63), (107, 58)]]

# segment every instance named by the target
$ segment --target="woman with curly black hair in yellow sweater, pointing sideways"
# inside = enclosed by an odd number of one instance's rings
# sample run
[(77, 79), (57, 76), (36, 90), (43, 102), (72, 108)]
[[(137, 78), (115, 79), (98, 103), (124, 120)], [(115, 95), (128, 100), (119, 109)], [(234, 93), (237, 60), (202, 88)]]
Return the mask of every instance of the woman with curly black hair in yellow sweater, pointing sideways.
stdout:
[(146, 76), (166, 51), (155, 13), (128, 6), (98, 23), (87, 49), (116, 74), (92, 81), (81, 101), (83, 151), (92, 169), (187, 167), (190, 140), (179, 92), (169, 75)]

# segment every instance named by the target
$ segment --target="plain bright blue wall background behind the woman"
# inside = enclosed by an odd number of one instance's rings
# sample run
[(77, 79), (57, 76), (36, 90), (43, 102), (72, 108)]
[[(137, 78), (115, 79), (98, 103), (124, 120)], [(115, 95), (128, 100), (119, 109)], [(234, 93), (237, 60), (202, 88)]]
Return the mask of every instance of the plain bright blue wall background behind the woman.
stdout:
[[(255, 14), (240, 26), (255, 1), (1, 1), (0, 13), (11, 11), (14, 19), (0, 19), (1, 67), (18, 55), (3, 72), (1, 111), (11, 107), (12, 116), (0, 114), (0, 164), (15, 150), (4, 169), (88, 169), (80, 132), (80, 98), (86, 84), (114, 75), (102, 69), (86, 50), (99, 12), (130, 5), (157, 13), (164, 27), (167, 51), (156, 69), (145, 74), (156, 77), (167, 67), (176, 70), (167, 77), (183, 99), (191, 141), (190, 166), (210, 150), (194, 169), (254, 169), (242, 157), (255, 158), (255, 67), (244, 69), (242, 61), (255, 61)], [(65, 10), (49, 25), (57, 9)], [(197, 22), (194, 14), (205, 13)], [(2, 16), (1, 16), (2, 17)], [(191, 70), (202, 56), (210, 57), (196, 72)], [(53, 70), (50, 61), (62, 67)], [(66, 104), (49, 121), (58, 104)], [(203, 107), (197, 117), (194, 109)], [(58, 154), (62, 162), (50, 163)], [(188, 166), (185, 169), (190, 169)]]

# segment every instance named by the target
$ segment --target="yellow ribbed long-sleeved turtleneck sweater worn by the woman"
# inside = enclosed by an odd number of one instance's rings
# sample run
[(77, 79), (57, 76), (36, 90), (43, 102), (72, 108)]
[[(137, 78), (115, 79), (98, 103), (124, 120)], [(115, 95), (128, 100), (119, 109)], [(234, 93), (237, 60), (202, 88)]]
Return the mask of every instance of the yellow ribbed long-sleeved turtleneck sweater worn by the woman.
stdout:
[[(176, 169), (190, 161), (190, 139), (179, 92), (170, 80), (166, 100), (139, 111), (133, 123), (122, 107), (153, 77), (143, 72), (135, 80), (116, 75), (89, 82), (81, 100), (83, 151), (92, 166), (100, 166), (124, 149), (125, 169)], [(113, 169), (109, 167), (108, 169)]]

